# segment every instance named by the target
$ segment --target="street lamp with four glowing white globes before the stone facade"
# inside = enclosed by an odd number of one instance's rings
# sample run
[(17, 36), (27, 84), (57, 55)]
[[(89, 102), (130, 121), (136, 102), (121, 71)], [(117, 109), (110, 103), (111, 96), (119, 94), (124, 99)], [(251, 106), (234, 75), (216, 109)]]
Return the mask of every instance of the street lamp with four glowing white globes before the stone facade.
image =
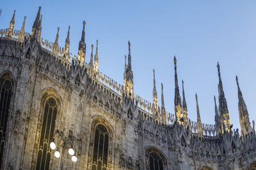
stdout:
[(61, 141), (62, 141), (63, 148), (67, 148), (67, 146), (70, 146), (70, 148), (68, 149), (68, 153), (69, 153), (69, 155), (72, 156), (72, 157), (71, 157), (71, 160), (72, 160), (73, 162), (76, 162), (76, 161), (77, 161), (77, 157), (76, 157), (76, 155), (75, 155), (74, 149), (72, 148), (72, 147), (73, 147), (73, 143), (74, 143), (74, 140), (73, 140), (73, 138), (72, 138), (72, 135), (69, 134), (69, 135), (68, 135), (68, 138), (67, 138), (67, 137), (64, 137), (64, 132), (63, 132), (63, 131), (59, 131), (58, 129), (57, 129), (56, 133), (54, 134), (54, 136), (56, 136), (56, 134), (58, 134), (58, 137), (57, 137), (56, 139), (60, 138), (60, 140), (59, 140), (59, 141), (57, 140), (56, 143), (54, 143), (54, 139), (53, 139), (53, 141), (50, 143), (50, 148), (51, 148), (52, 150), (55, 150), (55, 149), (56, 149), (56, 144), (58, 145), (57, 150), (54, 152), (54, 156), (55, 156), (56, 158), (59, 158), (59, 157), (60, 157), (59, 148), (60, 148), (60, 143), (61, 143)]

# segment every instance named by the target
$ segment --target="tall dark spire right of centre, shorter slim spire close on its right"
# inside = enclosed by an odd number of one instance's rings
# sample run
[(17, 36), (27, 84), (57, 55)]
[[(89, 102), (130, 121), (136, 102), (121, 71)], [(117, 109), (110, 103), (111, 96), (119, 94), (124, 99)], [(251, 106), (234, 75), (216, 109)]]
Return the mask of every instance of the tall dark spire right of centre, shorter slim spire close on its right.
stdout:
[(182, 124), (180, 120), (183, 116), (182, 116), (182, 108), (181, 108), (180, 92), (179, 92), (179, 85), (178, 85), (178, 76), (177, 76), (177, 60), (175, 56), (173, 58), (173, 62), (174, 62), (174, 71), (175, 71), (174, 113), (175, 113), (175, 119), (177, 120), (177, 122)]

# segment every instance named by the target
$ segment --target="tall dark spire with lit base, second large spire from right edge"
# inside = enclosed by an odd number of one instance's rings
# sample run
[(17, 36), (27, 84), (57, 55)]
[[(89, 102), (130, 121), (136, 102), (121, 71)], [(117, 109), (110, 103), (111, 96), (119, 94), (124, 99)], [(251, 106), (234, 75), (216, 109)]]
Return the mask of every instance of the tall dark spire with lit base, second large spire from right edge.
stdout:
[[(218, 76), (219, 76), (219, 84), (218, 84), (218, 91), (219, 91), (219, 113), (221, 117), (221, 121), (223, 122), (223, 129), (225, 132), (230, 132), (230, 119), (228, 113), (228, 106), (227, 100), (225, 98), (225, 94), (223, 91), (223, 85), (220, 76), (220, 64), (218, 62)], [(222, 126), (222, 125), (221, 125)]]

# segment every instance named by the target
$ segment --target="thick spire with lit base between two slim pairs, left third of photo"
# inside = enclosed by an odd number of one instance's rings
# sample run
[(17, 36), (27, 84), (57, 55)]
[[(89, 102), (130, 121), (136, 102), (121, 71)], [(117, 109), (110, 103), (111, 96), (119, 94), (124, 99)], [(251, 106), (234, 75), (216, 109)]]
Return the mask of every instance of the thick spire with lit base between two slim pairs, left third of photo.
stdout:
[(82, 37), (81, 37), (81, 41), (79, 41), (78, 55), (77, 55), (77, 60), (78, 60), (79, 64), (81, 64), (81, 66), (84, 65), (85, 55), (86, 55), (86, 43), (84, 42), (84, 39), (85, 39), (85, 32), (84, 32), (85, 24), (86, 24), (86, 22), (83, 21)]

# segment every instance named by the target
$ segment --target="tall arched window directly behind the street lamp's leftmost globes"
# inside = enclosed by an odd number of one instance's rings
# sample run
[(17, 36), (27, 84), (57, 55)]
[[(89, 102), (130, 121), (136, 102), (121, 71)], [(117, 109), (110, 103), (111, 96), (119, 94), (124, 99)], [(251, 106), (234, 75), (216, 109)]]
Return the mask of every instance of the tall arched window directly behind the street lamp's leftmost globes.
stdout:
[(36, 169), (49, 169), (51, 159), (50, 143), (54, 135), (55, 120), (57, 116), (57, 103), (55, 99), (50, 97), (45, 102), (44, 116), (42, 120), (42, 128), (38, 143), (38, 155), (36, 160)]

